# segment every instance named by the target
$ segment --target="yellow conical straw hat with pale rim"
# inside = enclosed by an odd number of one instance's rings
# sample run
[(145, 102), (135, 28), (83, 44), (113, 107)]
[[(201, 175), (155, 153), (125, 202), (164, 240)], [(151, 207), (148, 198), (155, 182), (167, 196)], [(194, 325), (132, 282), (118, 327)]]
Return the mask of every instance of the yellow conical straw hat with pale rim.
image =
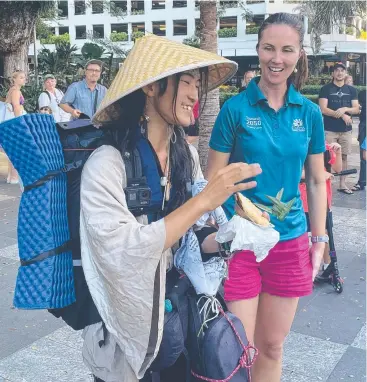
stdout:
[(205, 50), (193, 48), (155, 35), (135, 42), (108, 89), (93, 122), (118, 119), (116, 101), (162, 78), (187, 70), (208, 67), (208, 91), (226, 82), (237, 71), (237, 63)]

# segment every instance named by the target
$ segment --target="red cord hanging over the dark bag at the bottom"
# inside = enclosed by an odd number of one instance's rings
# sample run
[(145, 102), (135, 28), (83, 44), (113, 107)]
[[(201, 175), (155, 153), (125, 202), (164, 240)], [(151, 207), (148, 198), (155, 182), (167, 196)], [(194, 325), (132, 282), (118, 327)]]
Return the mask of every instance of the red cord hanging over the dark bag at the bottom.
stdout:
[[(245, 346), (244, 343), (242, 342), (242, 339), (240, 337), (240, 335), (238, 334), (235, 326), (233, 325), (233, 322), (229, 319), (229, 317), (227, 316), (227, 314), (223, 311), (222, 308), (219, 308), (219, 311), (220, 313), (222, 313), (222, 315), (226, 318), (226, 320), (228, 321), (229, 325), (231, 325), (231, 328), (232, 330), (234, 331), (242, 349), (243, 349), (243, 353), (238, 361), (238, 365), (236, 366), (236, 368), (232, 371), (232, 373), (225, 379), (212, 379), (212, 378), (207, 378), (207, 377), (203, 377), (202, 375), (199, 375), (199, 374), (196, 374), (193, 370), (191, 370), (191, 374), (198, 378), (198, 379), (201, 379), (202, 381), (207, 381), (207, 382), (229, 382), (233, 377), (234, 375), (242, 368), (242, 369), (247, 369), (247, 373), (248, 373), (248, 380), (249, 382), (251, 382), (251, 373), (250, 373), (250, 368), (251, 366), (254, 364), (255, 360), (256, 360), (256, 357), (258, 355), (258, 350), (251, 346), (251, 345), (247, 345)], [(254, 356), (252, 357), (251, 359), (251, 354), (249, 354), (249, 351), (250, 350), (254, 350)]]

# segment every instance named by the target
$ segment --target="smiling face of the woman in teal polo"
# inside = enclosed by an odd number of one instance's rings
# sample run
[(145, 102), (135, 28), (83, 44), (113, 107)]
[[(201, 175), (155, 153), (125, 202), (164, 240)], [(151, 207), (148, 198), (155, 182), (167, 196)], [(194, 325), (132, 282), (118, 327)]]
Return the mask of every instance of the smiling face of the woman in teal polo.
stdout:
[(262, 81), (268, 86), (286, 83), (303, 54), (300, 36), (288, 25), (270, 25), (262, 32), (257, 53)]

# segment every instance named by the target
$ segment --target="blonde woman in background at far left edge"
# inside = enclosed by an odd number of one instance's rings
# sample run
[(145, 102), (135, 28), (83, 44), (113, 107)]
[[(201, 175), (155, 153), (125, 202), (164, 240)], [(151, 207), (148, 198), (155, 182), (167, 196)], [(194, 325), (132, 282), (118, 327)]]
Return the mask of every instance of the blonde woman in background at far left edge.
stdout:
[[(24, 110), (24, 97), (21, 91), (22, 87), (26, 84), (26, 82), (27, 77), (23, 70), (17, 70), (11, 76), (11, 87), (8, 91), (8, 94), (6, 95), (5, 102), (12, 109), (12, 113), (14, 114), (13, 116), (15, 118), (20, 117), (21, 115), (26, 113)], [(10, 184), (19, 183), (18, 172), (15, 170), (14, 166), (11, 164), (9, 159), (8, 176), (6, 182)]]

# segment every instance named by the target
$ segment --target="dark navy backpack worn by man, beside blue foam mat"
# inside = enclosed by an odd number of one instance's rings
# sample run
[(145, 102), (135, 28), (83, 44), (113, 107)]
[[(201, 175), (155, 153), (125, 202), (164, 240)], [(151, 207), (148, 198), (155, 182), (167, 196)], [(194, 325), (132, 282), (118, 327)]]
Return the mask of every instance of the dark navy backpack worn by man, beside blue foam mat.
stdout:
[[(62, 122), (56, 126), (64, 150), (65, 167), (68, 169), (66, 171), (67, 208), (70, 248), (73, 257), (75, 302), (62, 308), (49, 309), (49, 312), (57, 318), (61, 317), (74, 330), (80, 330), (102, 321), (90, 295), (81, 264), (79, 237), (81, 173), (84, 164), (95, 149), (104, 144), (116, 146), (112, 134), (108, 131), (96, 129), (90, 120)], [(121, 152), (121, 149), (117, 149)], [(144, 157), (144, 160), (142, 160), (142, 157)], [(139, 145), (132, 152), (124, 151), (122, 158), (127, 177), (125, 194), (130, 212), (134, 216), (157, 214), (161, 210), (161, 189), (160, 187), (158, 189), (154, 188), (152, 185), (148, 187), (147, 180), (143, 176), (143, 167), (147, 168), (149, 178), (158, 176), (150, 145), (145, 140), (139, 141)], [(149, 165), (144, 166), (146, 163)], [(156, 173), (154, 170), (156, 170)], [(136, 189), (149, 192), (151, 197), (149, 205), (142, 207), (129, 205), (129, 199), (135, 199), (135, 197), (129, 198), (129, 192), (134, 196)], [(25, 187), (25, 191), (27, 191), (27, 187)]]

